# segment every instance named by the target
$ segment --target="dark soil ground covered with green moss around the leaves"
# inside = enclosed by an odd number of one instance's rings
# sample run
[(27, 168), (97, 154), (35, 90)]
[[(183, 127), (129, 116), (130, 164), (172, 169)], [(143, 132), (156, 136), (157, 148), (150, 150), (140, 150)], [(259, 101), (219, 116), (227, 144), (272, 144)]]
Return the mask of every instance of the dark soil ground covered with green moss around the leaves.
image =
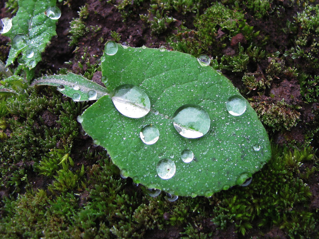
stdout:
[[(272, 158), (247, 187), (173, 203), (151, 198), (81, 132), (76, 118), (89, 103), (29, 89), (0, 101), (1, 237), (319, 238), (318, 3), (60, 3), (58, 37), (36, 76), (70, 70), (99, 81), (96, 61), (109, 39), (207, 54), (255, 108)], [(16, 11), (15, 1), (5, 6), (1, 18)], [(0, 36), (2, 61), (7, 43)]]

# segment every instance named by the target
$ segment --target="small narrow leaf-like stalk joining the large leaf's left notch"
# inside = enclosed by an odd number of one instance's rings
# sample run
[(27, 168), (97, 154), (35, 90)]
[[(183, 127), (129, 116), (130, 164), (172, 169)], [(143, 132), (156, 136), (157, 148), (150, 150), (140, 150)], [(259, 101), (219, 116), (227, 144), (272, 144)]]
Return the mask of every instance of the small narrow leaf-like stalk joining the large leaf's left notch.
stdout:
[(95, 100), (108, 94), (105, 87), (71, 72), (67, 75), (42, 76), (31, 83), (31, 86), (34, 85), (56, 86), (58, 91), (74, 101)]

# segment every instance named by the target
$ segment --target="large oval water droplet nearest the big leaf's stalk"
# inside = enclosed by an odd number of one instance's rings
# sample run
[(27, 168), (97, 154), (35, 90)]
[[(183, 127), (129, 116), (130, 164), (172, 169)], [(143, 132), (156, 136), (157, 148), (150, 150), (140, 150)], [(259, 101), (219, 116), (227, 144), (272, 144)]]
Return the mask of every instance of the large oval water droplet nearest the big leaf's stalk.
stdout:
[(139, 87), (125, 84), (115, 88), (112, 94), (115, 108), (130, 118), (141, 118), (151, 110), (151, 102), (146, 93)]

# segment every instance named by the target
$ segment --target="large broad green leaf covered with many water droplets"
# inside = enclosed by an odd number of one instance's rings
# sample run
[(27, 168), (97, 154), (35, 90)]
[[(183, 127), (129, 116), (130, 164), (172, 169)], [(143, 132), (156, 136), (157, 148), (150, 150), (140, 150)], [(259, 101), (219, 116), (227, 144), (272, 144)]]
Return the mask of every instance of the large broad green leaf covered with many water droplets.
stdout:
[[(270, 143), (262, 123), (249, 102), (225, 76), (210, 66), (200, 65), (189, 54), (117, 46), (117, 52), (116, 47), (113, 52), (106, 47), (106, 52), (116, 53), (104, 53), (105, 61), (102, 62), (102, 75), (108, 77), (106, 84), (110, 96), (116, 103), (117, 87), (131, 84), (145, 91), (152, 109), (144, 117), (129, 118), (117, 111), (107, 95), (82, 114), (82, 126), (96, 144), (108, 150), (124, 176), (132, 177), (134, 182), (148, 188), (175, 195), (211, 196), (230, 186), (241, 185), (270, 159)], [(241, 115), (234, 116), (226, 108), (226, 102), (233, 96), (247, 107)], [(139, 107), (147, 108), (146, 103), (142, 104), (147, 100), (142, 95), (141, 98), (144, 101), (123, 96), (119, 101), (138, 111)], [(175, 130), (175, 111), (188, 104), (198, 105), (209, 115), (210, 128), (202, 137), (185, 138)], [(194, 106), (179, 118), (195, 122), (186, 128), (189, 132), (204, 125), (205, 114), (198, 112)], [(147, 124), (159, 130), (159, 139), (152, 145), (140, 139), (140, 131)], [(181, 159), (185, 149), (194, 154), (190, 163)], [(165, 164), (170, 160), (174, 162), (176, 172), (173, 177), (162, 179), (159, 169), (174, 171), (172, 164)], [(163, 162), (167, 168), (161, 168)]]

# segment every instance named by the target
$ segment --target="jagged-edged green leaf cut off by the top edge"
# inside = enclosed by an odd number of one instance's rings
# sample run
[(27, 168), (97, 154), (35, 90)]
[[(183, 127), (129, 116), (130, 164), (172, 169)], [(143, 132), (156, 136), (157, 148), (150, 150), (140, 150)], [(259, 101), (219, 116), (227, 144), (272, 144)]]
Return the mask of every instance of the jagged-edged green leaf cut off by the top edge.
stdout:
[[(9, 32), (3, 33), (4, 36), (11, 38), (14, 45), (14, 37), (17, 34), (27, 36), (26, 46), (22, 49), (11, 47), (6, 66), (12, 64), (22, 53), (19, 62), (24, 62), (26, 68), (32, 69), (41, 61), (41, 53), (56, 35), (57, 19), (51, 19), (45, 15), (49, 7), (56, 5), (56, 0), (19, 0), (19, 10), (12, 18), (12, 27)], [(32, 53), (33, 52), (33, 53)], [(30, 57), (33, 55), (32, 57)]]

